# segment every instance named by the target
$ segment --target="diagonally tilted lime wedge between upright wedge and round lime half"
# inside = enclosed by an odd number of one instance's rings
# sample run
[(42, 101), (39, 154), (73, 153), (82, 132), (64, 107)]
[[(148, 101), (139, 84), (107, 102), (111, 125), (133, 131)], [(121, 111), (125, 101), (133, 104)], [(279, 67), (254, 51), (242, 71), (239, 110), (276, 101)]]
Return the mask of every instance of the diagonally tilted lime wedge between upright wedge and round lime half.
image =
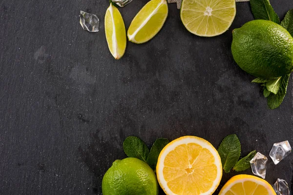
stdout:
[(163, 27), (168, 15), (166, 0), (150, 0), (132, 20), (127, 37), (131, 42), (144, 43)]

